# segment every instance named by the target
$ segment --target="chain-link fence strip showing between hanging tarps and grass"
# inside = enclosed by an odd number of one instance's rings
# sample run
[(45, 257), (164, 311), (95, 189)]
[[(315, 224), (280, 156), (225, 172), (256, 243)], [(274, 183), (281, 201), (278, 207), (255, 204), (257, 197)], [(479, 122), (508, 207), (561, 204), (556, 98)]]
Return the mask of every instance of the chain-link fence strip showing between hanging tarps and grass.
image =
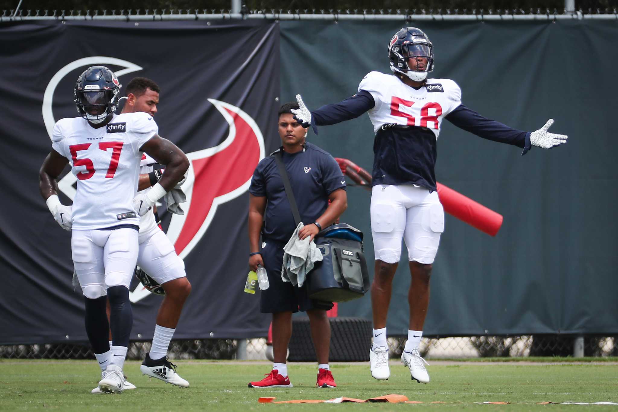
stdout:
[[(407, 337), (389, 337), (391, 358), (399, 358)], [(527, 356), (573, 356), (575, 336), (521, 335), (427, 338), (421, 340), (421, 355), (428, 359)], [(127, 359), (142, 360), (150, 342), (130, 343)], [(266, 360), (266, 338), (173, 340), (171, 359)], [(618, 356), (618, 336), (583, 337), (584, 356)], [(95, 359), (84, 343), (0, 346), (0, 358), (10, 359)]]

